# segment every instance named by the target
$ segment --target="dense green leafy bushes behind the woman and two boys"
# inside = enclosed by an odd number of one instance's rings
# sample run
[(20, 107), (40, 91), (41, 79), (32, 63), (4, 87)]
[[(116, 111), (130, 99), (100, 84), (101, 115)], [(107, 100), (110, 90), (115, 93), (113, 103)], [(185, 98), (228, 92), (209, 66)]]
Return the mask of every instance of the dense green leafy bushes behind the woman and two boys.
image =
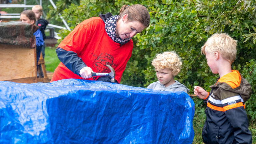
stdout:
[[(58, 1), (57, 3), (61, 3)], [(73, 29), (83, 20), (100, 13), (118, 14), (123, 4), (142, 4), (150, 12), (150, 26), (133, 38), (134, 49), (123, 73), (122, 84), (147, 87), (157, 81), (151, 61), (165, 51), (176, 51), (183, 59), (183, 69), (175, 77), (190, 89), (199, 85), (210, 91), (218, 78), (212, 74), (201, 47), (214, 33), (227, 33), (238, 41), (237, 57), (233, 69), (242, 73), (252, 86), (252, 96), (246, 102), (246, 111), (255, 138), (255, 91), (256, 91), (256, 3), (249, 0), (81, 0), (71, 4), (61, 13)], [(64, 38), (69, 32), (61, 31)], [(202, 100), (193, 98), (195, 116), (193, 143), (202, 143), (201, 129), (205, 120)], [(254, 124), (254, 125), (253, 125)]]

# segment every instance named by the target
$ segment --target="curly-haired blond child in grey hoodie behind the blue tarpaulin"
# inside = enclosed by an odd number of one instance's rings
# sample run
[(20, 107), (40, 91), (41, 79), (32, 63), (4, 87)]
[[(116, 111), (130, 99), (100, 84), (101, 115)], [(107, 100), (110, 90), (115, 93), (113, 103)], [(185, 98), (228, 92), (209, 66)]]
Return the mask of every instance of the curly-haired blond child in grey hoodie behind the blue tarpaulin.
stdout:
[(157, 82), (151, 83), (147, 88), (161, 91), (184, 91), (189, 92), (183, 84), (174, 80), (174, 76), (180, 72), (181, 58), (174, 51), (158, 54), (152, 61), (152, 65), (156, 70)]

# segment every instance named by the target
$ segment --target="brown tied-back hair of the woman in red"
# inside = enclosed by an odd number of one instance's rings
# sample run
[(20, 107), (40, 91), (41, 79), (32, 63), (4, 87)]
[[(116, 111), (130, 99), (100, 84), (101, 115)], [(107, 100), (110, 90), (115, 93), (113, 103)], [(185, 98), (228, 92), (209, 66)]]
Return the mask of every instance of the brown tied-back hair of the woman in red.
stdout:
[(119, 16), (123, 17), (125, 14), (128, 14), (128, 21), (139, 21), (144, 26), (149, 26), (150, 15), (147, 8), (143, 5), (123, 5), (119, 11)]

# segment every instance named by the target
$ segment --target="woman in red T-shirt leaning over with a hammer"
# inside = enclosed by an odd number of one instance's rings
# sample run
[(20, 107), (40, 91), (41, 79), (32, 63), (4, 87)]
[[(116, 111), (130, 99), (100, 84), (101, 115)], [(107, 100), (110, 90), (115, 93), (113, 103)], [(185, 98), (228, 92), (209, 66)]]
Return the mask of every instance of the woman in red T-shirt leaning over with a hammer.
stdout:
[(139, 4), (123, 5), (119, 15), (107, 13), (78, 24), (58, 45), (56, 53), (61, 63), (55, 69), (52, 81), (76, 78), (110, 82), (109, 76), (94, 76), (92, 72), (110, 72), (120, 83), (126, 63), (131, 57), (131, 38), (149, 26), (149, 12)]

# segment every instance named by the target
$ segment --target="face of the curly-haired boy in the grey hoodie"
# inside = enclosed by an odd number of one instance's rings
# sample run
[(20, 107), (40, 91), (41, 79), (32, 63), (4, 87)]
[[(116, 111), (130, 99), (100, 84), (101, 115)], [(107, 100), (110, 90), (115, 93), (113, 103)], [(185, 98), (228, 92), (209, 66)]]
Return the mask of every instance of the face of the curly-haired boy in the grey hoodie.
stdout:
[(168, 68), (164, 68), (158, 71), (156, 70), (156, 77), (161, 84), (165, 85), (165, 87), (175, 83), (172, 71)]

